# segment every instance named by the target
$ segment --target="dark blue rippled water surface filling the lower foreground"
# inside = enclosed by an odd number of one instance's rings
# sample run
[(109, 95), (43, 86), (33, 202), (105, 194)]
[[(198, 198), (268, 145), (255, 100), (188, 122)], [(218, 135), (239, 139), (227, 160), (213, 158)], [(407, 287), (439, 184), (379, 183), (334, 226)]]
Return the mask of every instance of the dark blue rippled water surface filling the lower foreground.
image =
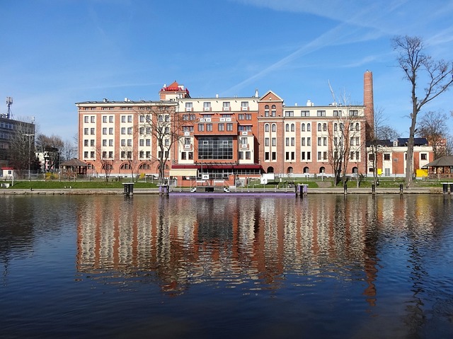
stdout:
[(2, 196), (3, 338), (452, 338), (442, 195)]

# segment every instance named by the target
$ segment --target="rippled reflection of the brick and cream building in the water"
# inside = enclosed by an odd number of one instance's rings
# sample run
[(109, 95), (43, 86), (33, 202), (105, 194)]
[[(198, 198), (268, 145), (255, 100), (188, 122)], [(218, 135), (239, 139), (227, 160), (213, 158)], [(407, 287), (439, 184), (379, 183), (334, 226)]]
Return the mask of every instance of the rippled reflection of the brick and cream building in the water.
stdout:
[[(154, 280), (171, 294), (201, 282), (279, 289), (289, 275), (329, 275), (365, 282), (364, 298), (374, 306), (386, 225), (395, 231), (395, 220), (405, 221), (403, 232), (430, 224), (426, 208), (406, 206), (399, 197), (137, 195), (118, 201), (93, 199), (79, 210), (79, 272), (107, 282)], [(409, 208), (425, 212), (410, 220)]]

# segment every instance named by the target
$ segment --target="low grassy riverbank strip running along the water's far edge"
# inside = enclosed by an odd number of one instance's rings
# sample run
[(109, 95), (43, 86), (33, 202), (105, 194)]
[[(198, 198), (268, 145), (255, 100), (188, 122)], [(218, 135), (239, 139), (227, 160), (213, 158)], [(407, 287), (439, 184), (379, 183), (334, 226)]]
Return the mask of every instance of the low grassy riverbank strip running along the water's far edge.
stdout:
[[(285, 194), (290, 195), (295, 192), (282, 189), (262, 189), (262, 188), (238, 188), (229, 193), (219, 192), (210, 195), (269, 195)], [(344, 188), (309, 188), (307, 194), (344, 194)], [(375, 194), (400, 194), (399, 188), (376, 188)], [(124, 190), (119, 188), (64, 188), (64, 189), (1, 189), (0, 195), (122, 195)], [(159, 188), (134, 188), (134, 195), (158, 195)], [(348, 188), (347, 194), (372, 194), (371, 188)], [(442, 188), (421, 187), (403, 189), (403, 194), (444, 194)], [(448, 191), (448, 194), (452, 194)], [(174, 189), (170, 195), (205, 195), (205, 193), (190, 193)]]

